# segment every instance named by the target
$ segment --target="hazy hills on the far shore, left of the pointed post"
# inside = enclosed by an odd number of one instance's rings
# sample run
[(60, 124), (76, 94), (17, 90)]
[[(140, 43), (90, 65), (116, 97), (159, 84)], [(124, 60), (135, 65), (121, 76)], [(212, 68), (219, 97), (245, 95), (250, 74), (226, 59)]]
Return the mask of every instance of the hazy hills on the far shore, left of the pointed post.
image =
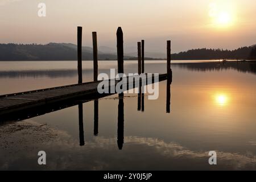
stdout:
[[(126, 57), (129, 58), (129, 57)], [(77, 46), (67, 43), (40, 44), (0, 44), (0, 61), (23, 60), (76, 60)], [(82, 59), (93, 60), (90, 47), (82, 47)], [(99, 60), (115, 60), (111, 53), (98, 52)]]

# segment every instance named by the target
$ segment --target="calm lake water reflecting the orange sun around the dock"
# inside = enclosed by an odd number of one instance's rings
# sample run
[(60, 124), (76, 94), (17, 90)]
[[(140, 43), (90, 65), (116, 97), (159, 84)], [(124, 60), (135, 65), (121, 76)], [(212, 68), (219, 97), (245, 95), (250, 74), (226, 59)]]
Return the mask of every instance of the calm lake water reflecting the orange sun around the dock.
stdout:
[[(114, 94), (1, 122), (0, 169), (255, 170), (255, 62), (187, 62), (171, 64), (170, 113), (162, 81), (158, 100), (145, 94), (144, 111), (138, 110), (138, 94), (125, 94), (123, 107)], [(82, 64), (83, 81), (92, 81), (92, 61)], [(76, 84), (76, 68), (76, 61), (0, 62), (0, 94)], [(117, 68), (116, 61), (100, 61), (99, 72), (110, 68)], [(137, 72), (137, 61), (126, 61), (125, 72)], [(146, 61), (145, 72), (165, 73), (166, 63)], [(46, 166), (38, 165), (38, 151), (46, 151)], [(208, 163), (209, 151), (217, 152), (215, 166)]]

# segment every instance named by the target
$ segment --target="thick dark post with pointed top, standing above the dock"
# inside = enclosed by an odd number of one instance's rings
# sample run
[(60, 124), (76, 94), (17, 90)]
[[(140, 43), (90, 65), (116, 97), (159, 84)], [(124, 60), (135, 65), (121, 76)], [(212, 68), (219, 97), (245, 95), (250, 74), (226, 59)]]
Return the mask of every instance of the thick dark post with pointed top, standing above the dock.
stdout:
[(117, 64), (118, 73), (123, 73), (123, 31), (121, 27), (117, 28)]

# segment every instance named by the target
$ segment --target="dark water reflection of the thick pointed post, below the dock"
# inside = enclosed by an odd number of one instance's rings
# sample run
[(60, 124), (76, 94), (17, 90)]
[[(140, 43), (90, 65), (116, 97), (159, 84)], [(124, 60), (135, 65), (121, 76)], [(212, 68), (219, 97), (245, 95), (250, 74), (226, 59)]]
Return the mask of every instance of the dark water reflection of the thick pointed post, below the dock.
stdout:
[(123, 130), (124, 130), (124, 115), (123, 115), (123, 93), (118, 94), (118, 123), (117, 123), (117, 146), (119, 150), (123, 148)]

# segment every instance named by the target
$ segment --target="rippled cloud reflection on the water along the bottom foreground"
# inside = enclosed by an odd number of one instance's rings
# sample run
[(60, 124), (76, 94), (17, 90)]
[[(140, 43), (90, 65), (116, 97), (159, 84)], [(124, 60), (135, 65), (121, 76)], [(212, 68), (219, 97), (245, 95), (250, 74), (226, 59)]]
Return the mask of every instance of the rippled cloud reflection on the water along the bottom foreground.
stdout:
[[(158, 138), (125, 137), (123, 150), (117, 138), (85, 135), (85, 146), (79, 137), (67, 131), (52, 129), (30, 120), (0, 127), (0, 169), (41, 169), (36, 164), (39, 150), (47, 151), (47, 169), (255, 169), (253, 152), (216, 151), (217, 166), (208, 164), (209, 151), (191, 150), (175, 142)], [(250, 142), (254, 144), (254, 142)], [(146, 166), (145, 166), (146, 165)]]

